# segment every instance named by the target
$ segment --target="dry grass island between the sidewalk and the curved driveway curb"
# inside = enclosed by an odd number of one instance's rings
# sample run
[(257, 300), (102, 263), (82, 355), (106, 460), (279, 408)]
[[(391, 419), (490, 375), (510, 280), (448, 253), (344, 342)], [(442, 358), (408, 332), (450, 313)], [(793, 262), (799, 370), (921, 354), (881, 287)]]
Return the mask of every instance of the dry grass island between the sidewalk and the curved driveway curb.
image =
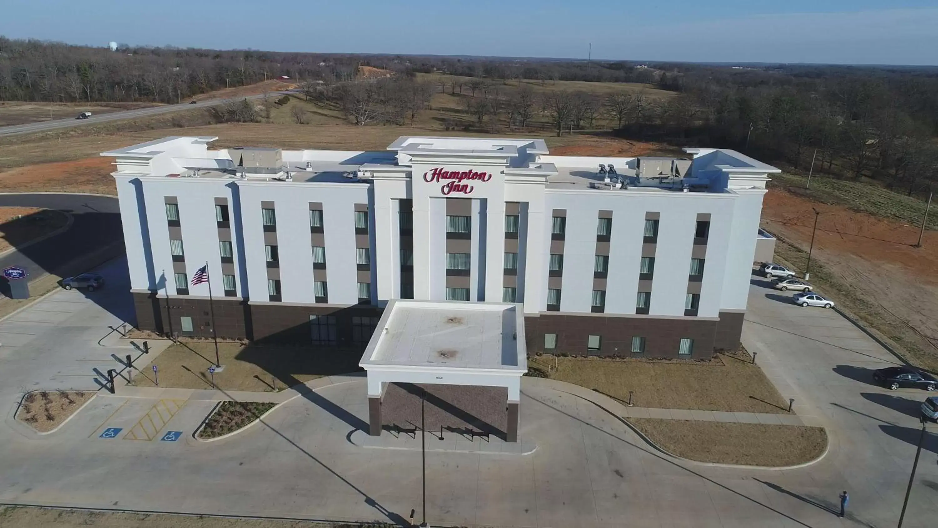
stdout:
[(792, 466), (821, 456), (824, 428), (628, 418), (662, 449), (685, 459), (722, 464)]

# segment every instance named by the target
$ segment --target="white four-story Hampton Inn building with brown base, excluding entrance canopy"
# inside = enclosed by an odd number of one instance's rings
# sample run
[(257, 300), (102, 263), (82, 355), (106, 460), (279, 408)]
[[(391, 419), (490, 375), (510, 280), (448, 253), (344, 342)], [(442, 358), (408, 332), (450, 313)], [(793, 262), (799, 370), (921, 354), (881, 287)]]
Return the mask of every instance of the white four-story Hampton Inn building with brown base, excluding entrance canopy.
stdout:
[[(139, 327), (363, 350), (390, 299), (518, 303), (527, 350), (709, 357), (739, 343), (765, 182), (738, 152), (551, 156), (542, 140), (115, 158)], [(600, 164), (614, 166), (599, 172)]]

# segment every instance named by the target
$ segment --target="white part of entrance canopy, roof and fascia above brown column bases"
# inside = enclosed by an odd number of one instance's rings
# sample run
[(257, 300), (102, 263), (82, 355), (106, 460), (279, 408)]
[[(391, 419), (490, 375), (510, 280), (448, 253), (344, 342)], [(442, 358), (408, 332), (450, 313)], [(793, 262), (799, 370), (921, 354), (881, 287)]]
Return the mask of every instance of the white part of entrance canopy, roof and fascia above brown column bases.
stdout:
[(508, 403), (521, 399), (527, 371), (523, 305), (392, 300), (365, 355), (368, 396), (385, 384), (504, 386)]

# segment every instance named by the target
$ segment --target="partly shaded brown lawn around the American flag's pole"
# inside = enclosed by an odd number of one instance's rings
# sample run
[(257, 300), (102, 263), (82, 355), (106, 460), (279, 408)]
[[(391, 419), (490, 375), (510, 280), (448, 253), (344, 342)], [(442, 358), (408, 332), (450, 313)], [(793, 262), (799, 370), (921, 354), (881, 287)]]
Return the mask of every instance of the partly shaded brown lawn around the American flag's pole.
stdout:
[[(145, 357), (145, 356), (144, 356)], [(242, 345), (219, 342), (224, 370), (215, 373), (215, 384), (223, 390), (273, 392), (323, 376), (358, 370), (360, 352), (318, 349), (313, 346)], [(146, 365), (135, 365), (133, 385), (156, 386), (153, 365), (159, 370), (159, 386), (212, 388), (208, 368), (215, 363), (212, 341), (187, 340), (171, 345)]]

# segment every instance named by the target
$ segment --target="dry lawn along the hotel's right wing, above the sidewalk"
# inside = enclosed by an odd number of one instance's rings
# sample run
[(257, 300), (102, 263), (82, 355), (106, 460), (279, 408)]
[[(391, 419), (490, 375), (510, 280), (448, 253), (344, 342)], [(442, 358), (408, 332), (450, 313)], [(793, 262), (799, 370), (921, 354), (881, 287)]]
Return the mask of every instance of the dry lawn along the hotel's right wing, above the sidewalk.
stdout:
[(741, 413), (787, 413), (788, 402), (743, 352), (720, 354), (709, 362), (537, 356), (529, 365), (554, 380), (628, 400), (637, 407), (698, 409)]

